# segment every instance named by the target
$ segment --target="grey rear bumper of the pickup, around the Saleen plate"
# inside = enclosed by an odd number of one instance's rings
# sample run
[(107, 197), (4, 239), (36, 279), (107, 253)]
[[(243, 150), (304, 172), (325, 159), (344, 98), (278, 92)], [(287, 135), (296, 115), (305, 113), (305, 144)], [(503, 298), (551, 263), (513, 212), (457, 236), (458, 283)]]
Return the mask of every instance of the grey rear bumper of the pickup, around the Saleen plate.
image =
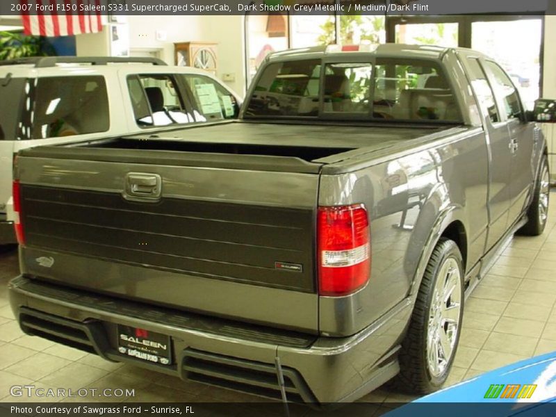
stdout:
[[(409, 305), (349, 338), (315, 338), (240, 324), (113, 297), (84, 293), (20, 276), (9, 284), (10, 304), (24, 332), (205, 384), (280, 398), (277, 357), (288, 400), (355, 400), (398, 373), (395, 357)], [(117, 350), (117, 325), (167, 334), (172, 363), (163, 366)], [(394, 342), (393, 342), (394, 341)]]

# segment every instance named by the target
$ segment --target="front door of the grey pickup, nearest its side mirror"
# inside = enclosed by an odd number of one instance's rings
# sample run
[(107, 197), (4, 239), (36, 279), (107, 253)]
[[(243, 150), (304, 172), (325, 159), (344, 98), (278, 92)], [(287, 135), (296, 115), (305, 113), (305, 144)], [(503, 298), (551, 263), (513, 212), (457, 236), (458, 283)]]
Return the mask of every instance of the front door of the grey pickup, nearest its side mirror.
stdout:
[(500, 113), (507, 120), (508, 134), (510, 138), (509, 149), (512, 161), (510, 163), (510, 186), (509, 186), (509, 225), (513, 224), (523, 213), (528, 200), (528, 191), (534, 180), (534, 171), (531, 165), (533, 154), (534, 127), (530, 123), (524, 123), (523, 106), (518, 92), (512, 80), (502, 70), (500, 65), (485, 60), (486, 71), (491, 77), (491, 83), (496, 97)]

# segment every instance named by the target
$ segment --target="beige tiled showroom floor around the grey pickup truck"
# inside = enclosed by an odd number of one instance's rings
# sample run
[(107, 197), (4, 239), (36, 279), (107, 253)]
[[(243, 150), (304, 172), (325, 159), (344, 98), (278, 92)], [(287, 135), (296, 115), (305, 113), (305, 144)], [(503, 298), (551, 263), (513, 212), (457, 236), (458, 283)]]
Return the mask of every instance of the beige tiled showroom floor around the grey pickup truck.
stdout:
[[(542, 236), (509, 241), (473, 295), (448, 385), (508, 363), (556, 350), (556, 193)], [(24, 336), (7, 300), (6, 284), (17, 275), (17, 253), (0, 254), (0, 398), (2, 401), (63, 398), (12, 397), (13, 385), (42, 388), (131, 388), (132, 402), (253, 402), (250, 395), (181, 382), (140, 368), (109, 363), (91, 354)], [(379, 389), (361, 400), (404, 402), (410, 396)], [(86, 400), (99, 400), (90, 397)]]

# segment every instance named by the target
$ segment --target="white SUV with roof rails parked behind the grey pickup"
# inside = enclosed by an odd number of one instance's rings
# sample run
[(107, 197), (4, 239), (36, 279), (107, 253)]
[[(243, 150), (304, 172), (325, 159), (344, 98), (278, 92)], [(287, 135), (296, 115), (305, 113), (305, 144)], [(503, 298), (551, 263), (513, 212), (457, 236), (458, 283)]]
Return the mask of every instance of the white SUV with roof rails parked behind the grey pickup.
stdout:
[(0, 245), (16, 241), (8, 207), (20, 149), (231, 119), (240, 105), (211, 74), (152, 58), (0, 61), (0, 97)]

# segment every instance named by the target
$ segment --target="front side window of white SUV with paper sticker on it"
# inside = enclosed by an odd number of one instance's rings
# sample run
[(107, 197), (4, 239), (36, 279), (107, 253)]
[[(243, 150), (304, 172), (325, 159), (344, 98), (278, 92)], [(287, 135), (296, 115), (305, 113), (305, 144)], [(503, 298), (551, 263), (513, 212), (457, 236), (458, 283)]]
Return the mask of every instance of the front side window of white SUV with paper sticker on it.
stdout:
[(183, 75), (193, 96), (195, 122), (213, 122), (238, 117), (236, 98), (218, 82), (202, 75)]

